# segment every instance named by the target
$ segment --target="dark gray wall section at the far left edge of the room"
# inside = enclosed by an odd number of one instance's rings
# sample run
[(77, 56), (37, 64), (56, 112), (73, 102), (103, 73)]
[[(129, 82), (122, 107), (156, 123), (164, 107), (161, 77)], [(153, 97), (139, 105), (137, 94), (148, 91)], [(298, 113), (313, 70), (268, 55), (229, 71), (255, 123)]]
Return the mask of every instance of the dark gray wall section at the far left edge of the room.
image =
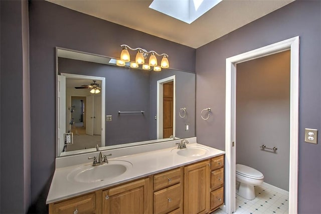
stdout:
[(30, 205), (28, 2), (1, 1), (1, 213)]

